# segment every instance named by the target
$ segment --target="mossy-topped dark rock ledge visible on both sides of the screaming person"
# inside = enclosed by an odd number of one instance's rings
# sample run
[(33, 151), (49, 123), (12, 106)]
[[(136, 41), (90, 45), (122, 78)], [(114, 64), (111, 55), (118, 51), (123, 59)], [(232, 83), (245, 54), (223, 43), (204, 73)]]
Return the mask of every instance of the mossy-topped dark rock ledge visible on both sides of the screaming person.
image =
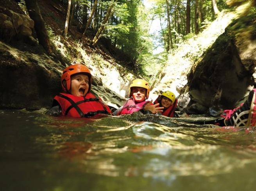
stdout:
[[(49, 109), (53, 97), (62, 92), (61, 71), (43, 52), (21, 51), (0, 41), (0, 108)], [(125, 101), (106, 87), (92, 87), (93, 93), (118, 108)]]

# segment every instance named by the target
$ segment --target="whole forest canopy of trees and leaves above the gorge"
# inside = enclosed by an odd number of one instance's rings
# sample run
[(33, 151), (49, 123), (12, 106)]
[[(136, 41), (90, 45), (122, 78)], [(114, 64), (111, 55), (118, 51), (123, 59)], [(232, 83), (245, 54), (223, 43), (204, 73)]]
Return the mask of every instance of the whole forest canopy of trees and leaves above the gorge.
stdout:
[[(18, 1), (21, 5), (30, 0)], [(63, 35), (68, 28), (79, 25), (81, 37), (89, 37), (90, 44), (96, 46), (104, 38), (115, 49), (116, 55), (125, 58), (127, 66), (139, 73), (147, 73), (147, 67), (155, 68), (156, 63), (164, 64), (168, 53), (182, 41), (193, 37), (220, 11), (227, 9), (226, 0), (59, 0), (66, 7), (66, 22)], [(229, 5), (245, 2), (228, 0)], [(150, 9), (145, 4), (152, 4)], [(31, 17), (31, 16), (30, 16)], [(149, 34), (151, 23), (158, 19), (161, 28), (158, 35)], [(36, 26), (36, 25), (35, 25)], [(49, 33), (49, 32), (48, 32)], [(152, 41), (152, 39), (154, 41)], [(44, 39), (44, 41), (46, 41)], [(158, 42), (158, 43), (156, 43)], [(153, 55), (153, 50), (161, 46), (163, 52)], [(50, 52), (48, 42), (44, 46)], [(159, 57), (159, 55), (161, 55)]]

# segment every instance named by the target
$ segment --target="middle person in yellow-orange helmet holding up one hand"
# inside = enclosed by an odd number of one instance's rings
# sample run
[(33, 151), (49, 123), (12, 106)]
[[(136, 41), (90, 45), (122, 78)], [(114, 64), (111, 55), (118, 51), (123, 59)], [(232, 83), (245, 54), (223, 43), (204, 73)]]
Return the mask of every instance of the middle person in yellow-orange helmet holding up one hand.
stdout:
[(149, 83), (146, 80), (133, 80), (130, 85), (129, 99), (113, 112), (113, 115), (131, 114), (136, 111), (141, 111), (143, 114), (163, 112), (164, 108), (159, 107), (159, 103), (153, 104), (152, 101), (146, 100), (149, 98), (149, 91)]

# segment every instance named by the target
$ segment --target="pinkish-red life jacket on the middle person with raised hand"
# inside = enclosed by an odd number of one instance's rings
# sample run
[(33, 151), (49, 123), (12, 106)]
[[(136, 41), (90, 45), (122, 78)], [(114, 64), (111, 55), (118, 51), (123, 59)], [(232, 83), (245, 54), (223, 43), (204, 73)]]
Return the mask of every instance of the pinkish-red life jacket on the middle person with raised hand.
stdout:
[(133, 112), (139, 111), (143, 109), (147, 103), (149, 103), (149, 101), (142, 101), (136, 104), (134, 100), (130, 98), (125, 102), (122, 110), (119, 111), (116, 115), (131, 114)]

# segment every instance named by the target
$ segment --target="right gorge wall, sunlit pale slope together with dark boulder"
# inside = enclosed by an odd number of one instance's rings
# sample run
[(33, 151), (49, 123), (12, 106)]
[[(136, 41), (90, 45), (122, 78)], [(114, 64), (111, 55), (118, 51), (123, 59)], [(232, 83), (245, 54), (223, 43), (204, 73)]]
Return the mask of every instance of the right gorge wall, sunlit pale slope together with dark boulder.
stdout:
[[(256, 85), (256, 21), (252, 7), (246, 9), (251, 14), (222, 12), (196, 40), (181, 44), (169, 55), (162, 71), (166, 75), (152, 92), (167, 88), (175, 94), (189, 92), (191, 103), (186, 109), (191, 112), (238, 106)], [(183, 102), (179, 110), (186, 105)]]

